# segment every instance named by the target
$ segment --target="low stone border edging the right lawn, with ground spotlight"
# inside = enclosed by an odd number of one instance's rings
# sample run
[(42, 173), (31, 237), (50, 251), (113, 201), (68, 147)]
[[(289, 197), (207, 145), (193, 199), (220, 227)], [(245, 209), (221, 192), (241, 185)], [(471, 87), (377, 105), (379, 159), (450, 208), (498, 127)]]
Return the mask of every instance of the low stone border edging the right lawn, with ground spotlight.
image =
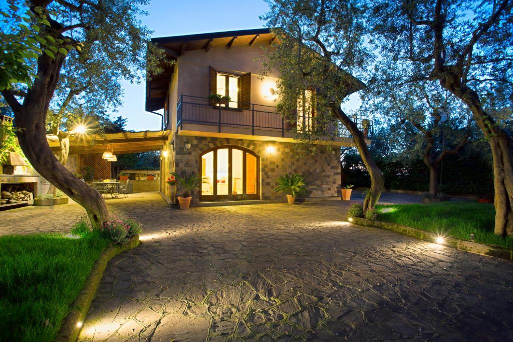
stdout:
[[(424, 241), (436, 243), (437, 234), (433, 232), (428, 232), (422, 229), (417, 228), (411, 228), (407, 226), (398, 225), (395, 223), (389, 223), (389, 222), (383, 222), (378, 220), (370, 220), (362, 217), (348, 217), (347, 220), (351, 223), (360, 225), (360, 226), (367, 226), (367, 227), (374, 227), (374, 228), (382, 228), (394, 231), (396, 233), (415, 237)], [(507, 259), (510, 261), (513, 261), (513, 250), (496, 247), (496, 246), (488, 246), (479, 244), (476, 242), (466, 241), (466, 240), (460, 240), (456, 237), (446, 236), (444, 237), (444, 242), (441, 244), (444, 246), (453, 247), (462, 251), (486, 255), (486, 256), (493, 256), (496, 258), (502, 258)]]

